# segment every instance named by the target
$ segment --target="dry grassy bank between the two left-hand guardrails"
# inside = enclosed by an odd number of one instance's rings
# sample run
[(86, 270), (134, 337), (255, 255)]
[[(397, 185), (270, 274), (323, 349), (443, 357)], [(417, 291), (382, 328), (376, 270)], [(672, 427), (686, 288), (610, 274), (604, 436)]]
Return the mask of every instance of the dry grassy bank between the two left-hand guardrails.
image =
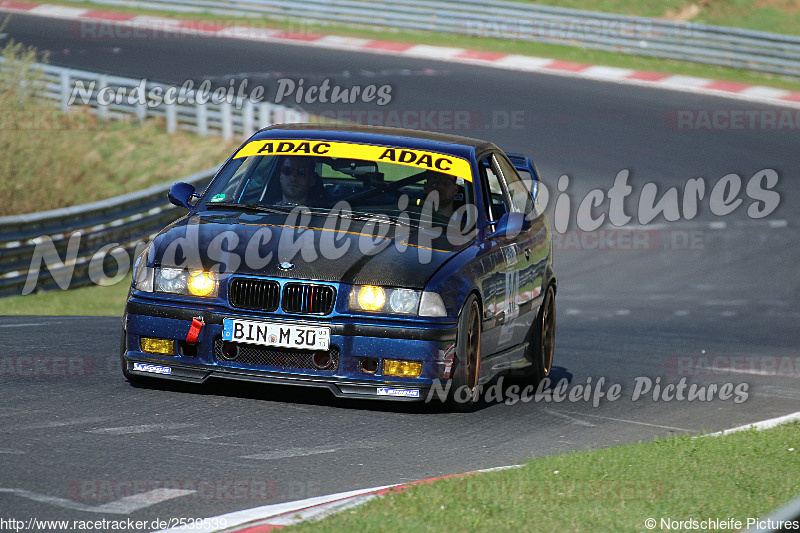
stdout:
[[(46, 211), (134, 192), (214, 167), (240, 140), (168, 135), (163, 121), (101, 122), (40, 101), (36, 51), (11, 42), (0, 72), (0, 216)], [(24, 82), (24, 83), (23, 83)]]

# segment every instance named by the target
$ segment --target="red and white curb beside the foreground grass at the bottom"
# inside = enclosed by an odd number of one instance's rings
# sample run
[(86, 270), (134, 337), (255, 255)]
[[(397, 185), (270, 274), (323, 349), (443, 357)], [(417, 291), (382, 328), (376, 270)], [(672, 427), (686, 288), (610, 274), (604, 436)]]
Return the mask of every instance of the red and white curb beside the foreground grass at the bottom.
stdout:
[[(339, 492), (337, 494), (329, 494), (327, 496), (317, 496), (315, 498), (307, 498), (305, 500), (298, 500), (294, 502), (277, 503), (274, 505), (265, 505), (263, 507), (255, 507), (253, 509), (246, 509), (244, 511), (237, 511), (235, 513), (228, 513), (224, 515), (207, 518), (203, 521), (207, 524), (207, 528), (198, 527), (200, 523), (177, 527), (173, 529), (165, 529), (156, 533), (175, 533), (178, 531), (202, 531), (207, 533), (221, 532), (225, 533), (264, 533), (276, 529), (282, 529), (286, 526), (299, 524), (308, 520), (320, 520), (326, 516), (356, 507), (362, 503), (370, 500), (385, 496), (390, 492), (401, 492), (414, 485), (423, 483), (432, 483), (440, 479), (447, 479), (451, 477), (467, 476), (470, 474), (477, 474), (481, 472), (494, 472), (496, 470), (506, 470), (509, 468), (519, 468), (522, 465), (511, 466), (498, 466), (495, 468), (485, 468), (483, 470), (476, 470), (474, 472), (467, 472), (464, 474), (452, 474), (449, 476), (438, 476), (428, 479), (421, 479), (419, 481), (412, 481), (410, 483), (398, 483), (395, 485), (384, 485), (382, 487), (372, 487), (369, 489), (352, 490), (349, 492)], [(216, 524), (216, 526), (215, 526)], [(225, 524), (223, 527), (222, 524)]]

